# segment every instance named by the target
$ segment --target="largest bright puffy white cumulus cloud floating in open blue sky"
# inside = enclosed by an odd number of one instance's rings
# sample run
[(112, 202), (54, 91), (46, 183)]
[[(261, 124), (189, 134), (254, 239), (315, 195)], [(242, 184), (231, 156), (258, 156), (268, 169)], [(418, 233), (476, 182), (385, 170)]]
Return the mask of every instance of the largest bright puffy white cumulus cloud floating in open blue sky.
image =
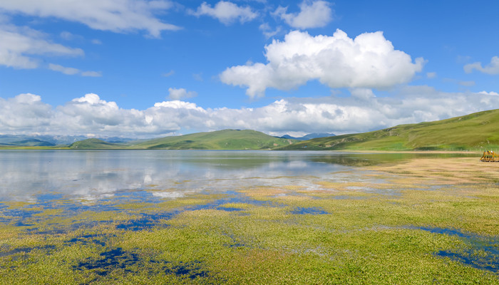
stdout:
[(339, 29), (333, 36), (292, 31), (265, 51), (267, 64), (232, 66), (220, 80), (247, 86), (251, 98), (263, 96), (267, 88), (289, 90), (314, 79), (330, 88), (389, 88), (411, 81), (424, 63), (423, 58), (413, 63), (407, 53), (395, 50), (380, 31), (354, 39)]

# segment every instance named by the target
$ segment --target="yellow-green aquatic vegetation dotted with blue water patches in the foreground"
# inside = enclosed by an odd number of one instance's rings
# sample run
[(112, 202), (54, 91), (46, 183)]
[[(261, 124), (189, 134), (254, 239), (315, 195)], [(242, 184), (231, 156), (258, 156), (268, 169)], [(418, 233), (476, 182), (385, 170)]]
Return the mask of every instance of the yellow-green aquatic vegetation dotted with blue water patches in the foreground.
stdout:
[(0, 283), (499, 284), (499, 163), (341, 175), (307, 189), (4, 202)]

